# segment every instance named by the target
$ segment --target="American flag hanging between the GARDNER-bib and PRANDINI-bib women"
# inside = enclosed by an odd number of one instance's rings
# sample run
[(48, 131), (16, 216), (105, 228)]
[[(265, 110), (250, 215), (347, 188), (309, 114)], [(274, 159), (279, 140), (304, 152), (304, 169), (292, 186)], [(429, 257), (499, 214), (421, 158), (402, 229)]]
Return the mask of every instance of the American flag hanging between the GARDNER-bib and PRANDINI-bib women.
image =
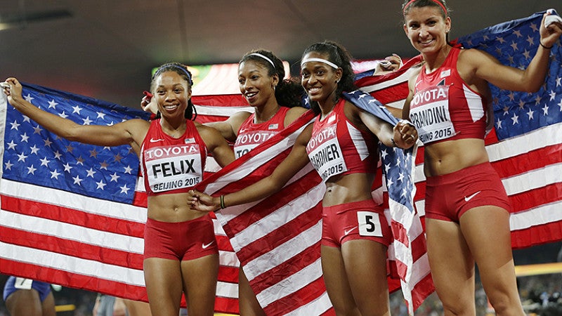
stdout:
[[(403, 72), (407, 72), (407, 68), (403, 68), (393, 76), (399, 78)], [(385, 90), (379, 90), (379, 93), (383, 93), (382, 91)], [(377, 94), (374, 93), (375, 96)], [(344, 96), (351, 103), (377, 117), (384, 118), (390, 124), (396, 125), (398, 122), (398, 119), (393, 117), (382, 103), (368, 93), (355, 91)], [(381, 96), (384, 97), (382, 94)], [(416, 192), (414, 168), (417, 147), (402, 150), (379, 143), (379, 152), (381, 156), (379, 167), (384, 174), (384, 181), (374, 183), (373, 195), (374, 199), (384, 206), (388, 224), (391, 225), (393, 232), (393, 242), (388, 246), (390, 272), (388, 290), (402, 289), (410, 314), (413, 314), (435, 289), (429, 271), (424, 228), (419, 214), (414, 209)]]

